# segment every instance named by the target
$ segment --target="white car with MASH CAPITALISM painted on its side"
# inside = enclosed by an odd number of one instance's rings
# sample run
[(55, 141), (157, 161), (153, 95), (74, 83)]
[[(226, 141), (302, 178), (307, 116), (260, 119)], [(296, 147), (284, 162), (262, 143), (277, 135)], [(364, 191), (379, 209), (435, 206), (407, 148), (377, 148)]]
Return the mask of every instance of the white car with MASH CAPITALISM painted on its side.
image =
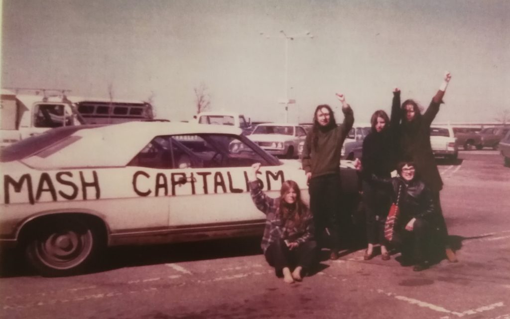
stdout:
[[(251, 164), (263, 189), (308, 185), (286, 165), (228, 126), (126, 122), (47, 131), (0, 151), (0, 244), (18, 247), (47, 276), (93, 265), (106, 246), (261, 235), (252, 203)], [(346, 201), (358, 193), (355, 170), (341, 167)], [(349, 204), (355, 207), (355, 203)], [(346, 209), (347, 211), (347, 209)]]

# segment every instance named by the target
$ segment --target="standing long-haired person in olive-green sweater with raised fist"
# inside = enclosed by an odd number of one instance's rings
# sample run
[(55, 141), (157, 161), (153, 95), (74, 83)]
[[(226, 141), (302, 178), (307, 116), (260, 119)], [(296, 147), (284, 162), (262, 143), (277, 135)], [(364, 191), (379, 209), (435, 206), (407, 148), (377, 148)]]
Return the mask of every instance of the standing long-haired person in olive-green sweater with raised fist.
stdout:
[[(344, 122), (337, 126), (335, 114), (327, 104), (317, 106), (314, 126), (303, 146), (302, 167), (307, 175), (310, 208), (314, 216), (316, 237), (327, 235), (329, 258), (338, 259), (340, 250), (340, 156), (344, 140), (352, 128), (354, 116), (343, 94), (336, 94), (342, 104)], [(323, 240), (325, 242), (325, 240)], [(326, 245), (324, 245), (326, 246)]]

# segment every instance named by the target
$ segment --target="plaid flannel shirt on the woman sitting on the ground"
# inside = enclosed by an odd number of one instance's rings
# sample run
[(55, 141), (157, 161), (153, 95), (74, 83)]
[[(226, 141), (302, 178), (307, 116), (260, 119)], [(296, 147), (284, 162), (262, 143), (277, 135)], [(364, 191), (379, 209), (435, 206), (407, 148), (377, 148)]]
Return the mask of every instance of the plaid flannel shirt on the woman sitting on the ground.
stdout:
[(280, 239), (287, 239), (289, 242), (301, 244), (313, 239), (313, 218), (310, 210), (303, 216), (303, 223), (300, 228), (294, 227), (291, 221), (287, 223), (279, 214), (279, 199), (268, 197), (260, 187), (258, 181), (249, 182), (251, 199), (257, 208), (266, 214), (266, 226), (262, 237), (261, 247), (264, 252), (272, 242)]

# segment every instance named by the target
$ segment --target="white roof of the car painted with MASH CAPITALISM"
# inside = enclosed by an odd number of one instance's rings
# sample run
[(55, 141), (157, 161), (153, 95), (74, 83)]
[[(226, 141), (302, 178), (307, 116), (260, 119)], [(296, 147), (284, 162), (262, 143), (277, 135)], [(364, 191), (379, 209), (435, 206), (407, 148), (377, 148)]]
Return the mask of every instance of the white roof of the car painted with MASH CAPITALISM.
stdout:
[(207, 133), (240, 135), (241, 132), (235, 127), (182, 122), (133, 121), (101, 127), (83, 126), (83, 129), (75, 131), (65, 140), (49, 144), (21, 161), (39, 169), (124, 166), (156, 136)]

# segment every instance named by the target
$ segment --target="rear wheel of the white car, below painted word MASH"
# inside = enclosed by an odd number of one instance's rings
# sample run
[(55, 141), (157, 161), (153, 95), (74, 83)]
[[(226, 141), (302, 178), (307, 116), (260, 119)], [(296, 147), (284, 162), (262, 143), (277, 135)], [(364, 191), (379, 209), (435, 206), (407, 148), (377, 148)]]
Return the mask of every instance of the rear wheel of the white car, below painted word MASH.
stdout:
[(47, 218), (32, 229), (25, 246), (28, 262), (43, 276), (82, 272), (100, 247), (97, 233), (77, 216)]

